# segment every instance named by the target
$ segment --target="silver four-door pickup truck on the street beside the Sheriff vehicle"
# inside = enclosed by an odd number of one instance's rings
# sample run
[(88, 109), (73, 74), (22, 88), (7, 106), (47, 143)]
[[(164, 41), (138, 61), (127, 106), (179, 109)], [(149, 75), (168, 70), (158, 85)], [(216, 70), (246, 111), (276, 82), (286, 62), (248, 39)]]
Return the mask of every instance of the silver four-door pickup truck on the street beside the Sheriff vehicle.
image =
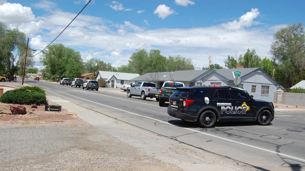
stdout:
[(138, 81), (134, 85), (127, 88), (127, 97), (140, 96), (142, 100), (146, 97), (156, 98), (159, 102), (160, 89), (156, 88), (156, 84), (153, 82)]

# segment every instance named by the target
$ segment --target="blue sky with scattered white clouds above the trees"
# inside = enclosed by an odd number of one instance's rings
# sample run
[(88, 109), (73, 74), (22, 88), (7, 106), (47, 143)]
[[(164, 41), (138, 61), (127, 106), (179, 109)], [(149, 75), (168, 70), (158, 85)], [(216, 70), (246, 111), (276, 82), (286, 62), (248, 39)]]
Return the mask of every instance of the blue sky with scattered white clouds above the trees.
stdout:
[[(84, 8), (88, 0), (0, 0), (0, 21), (18, 27), (41, 50)], [(192, 59), (196, 69), (238, 58), (255, 49), (271, 58), (273, 34), (305, 22), (303, 0), (92, 0), (53, 42), (80, 51), (84, 61), (127, 65), (136, 49)], [(38, 54), (39, 53), (39, 54)]]

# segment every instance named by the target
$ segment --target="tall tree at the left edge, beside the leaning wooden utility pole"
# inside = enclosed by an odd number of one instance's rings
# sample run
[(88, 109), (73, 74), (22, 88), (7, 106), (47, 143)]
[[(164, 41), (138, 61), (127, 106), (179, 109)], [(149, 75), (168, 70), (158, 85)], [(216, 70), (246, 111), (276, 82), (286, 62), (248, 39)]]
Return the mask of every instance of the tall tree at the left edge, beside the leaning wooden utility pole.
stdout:
[[(0, 72), (12, 76), (23, 70), (26, 48), (25, 34), (18, 28), (8, 30), (7, 26), (0, 21)], [(25, 68), (32, 67), (34, 63), (32, 51), (28, 48)]]

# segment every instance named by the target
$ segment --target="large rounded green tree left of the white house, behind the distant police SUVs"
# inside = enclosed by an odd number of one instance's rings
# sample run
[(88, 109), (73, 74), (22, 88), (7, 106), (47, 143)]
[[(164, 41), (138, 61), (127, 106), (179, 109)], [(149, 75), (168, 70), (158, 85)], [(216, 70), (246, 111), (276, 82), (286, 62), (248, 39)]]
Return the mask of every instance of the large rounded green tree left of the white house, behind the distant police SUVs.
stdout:
[[(57, 65), (57, 60), (59, 65)], [(65, 47), (63, 44), (52, 44), (42, 51), (40, 62), (50, 72), (50, 77), (56, 78), (57, 69), (60, 78), (75, 78), (84, 73), (81, 53)]]

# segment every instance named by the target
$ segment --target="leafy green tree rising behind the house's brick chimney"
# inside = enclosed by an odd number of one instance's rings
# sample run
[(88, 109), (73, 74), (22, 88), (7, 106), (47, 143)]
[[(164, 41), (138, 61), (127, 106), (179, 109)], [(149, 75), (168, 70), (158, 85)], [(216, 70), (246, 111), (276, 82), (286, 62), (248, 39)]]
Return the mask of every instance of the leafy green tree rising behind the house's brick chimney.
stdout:
[(252, 49), (252, 51), (247, 50), (247, 52), (244, 54), (244, 56), (240, 55), (238, 58), (238, 64), (244, 66), (244, 68), (256, 68), (260, 67), (261, 59), (256, 54), (255, 49)]

